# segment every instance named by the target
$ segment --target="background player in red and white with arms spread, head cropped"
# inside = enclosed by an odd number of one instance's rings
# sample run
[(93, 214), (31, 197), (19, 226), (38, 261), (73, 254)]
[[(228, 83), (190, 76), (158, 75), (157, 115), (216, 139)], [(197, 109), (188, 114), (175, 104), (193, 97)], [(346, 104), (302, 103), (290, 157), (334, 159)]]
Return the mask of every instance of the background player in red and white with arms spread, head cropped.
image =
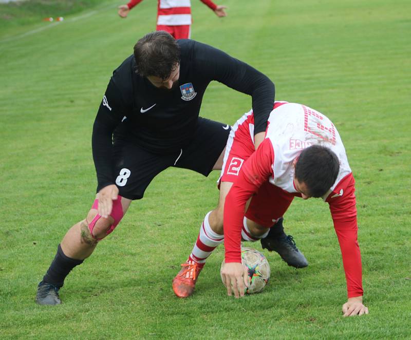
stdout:
[[(119, 6), (119, 15), (127, 17), (128, 12), (143, 0), (130, 0), (127, 5)], [(226, 6), (214, 4), (211, 0), (201, 0), (218, 17), (227, 16)], [(190, 0), (158, 0), (157, 31), (166, 31), (175, 39), (190, 39), (191, 36), (191, 2)]]

